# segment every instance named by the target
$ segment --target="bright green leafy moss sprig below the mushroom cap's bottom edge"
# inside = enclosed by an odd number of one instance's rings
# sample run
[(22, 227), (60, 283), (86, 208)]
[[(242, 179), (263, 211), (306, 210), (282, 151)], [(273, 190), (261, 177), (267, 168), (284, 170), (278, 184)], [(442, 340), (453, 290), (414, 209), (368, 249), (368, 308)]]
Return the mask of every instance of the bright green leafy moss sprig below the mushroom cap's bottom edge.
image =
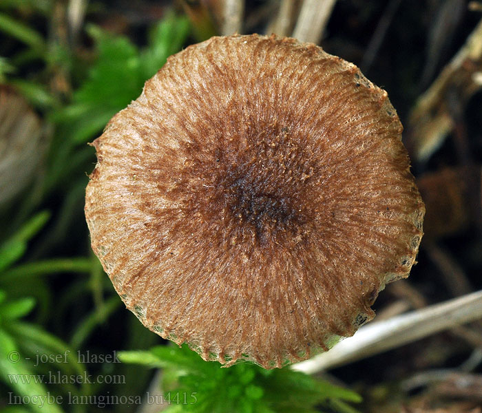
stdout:
[(197, 402), (182, 406), (186, 412), (315, 413), (318, 405), (325, 405), (333, 412), (353, 413), (346, 402), (361, 401), (350, 390), (290, 368), (264, 370), (247, 362), (222, 368), (187, 346), (123, 352), (121, 361), (163, 368), (163, 388), (170, 394), (195, 392)]

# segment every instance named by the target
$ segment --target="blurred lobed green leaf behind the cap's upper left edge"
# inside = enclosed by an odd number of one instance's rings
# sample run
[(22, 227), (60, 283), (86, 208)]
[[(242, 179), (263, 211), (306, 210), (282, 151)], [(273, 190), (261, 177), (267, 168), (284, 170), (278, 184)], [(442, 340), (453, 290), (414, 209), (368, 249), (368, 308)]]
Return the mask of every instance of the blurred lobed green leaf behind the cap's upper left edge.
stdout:
[(138, 98), (147, 78), (185, 43), (189, 21), (168, 14), (151, 29), (143, 51), (127, 37), (113, 36), (95, 25), (87, 25), (87, 32), (96, 43), (97, 59), (74, 92), (72, 104), (52, 116), (65, 125), (63, 134), (76, 144), (94, 138), (114, 114)]

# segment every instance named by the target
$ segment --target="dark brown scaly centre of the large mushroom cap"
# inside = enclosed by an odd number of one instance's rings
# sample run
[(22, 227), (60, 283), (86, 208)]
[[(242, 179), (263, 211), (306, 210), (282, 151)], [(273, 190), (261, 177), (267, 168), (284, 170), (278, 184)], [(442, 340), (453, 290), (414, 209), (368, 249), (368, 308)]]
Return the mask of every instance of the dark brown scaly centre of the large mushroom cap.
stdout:
[(189, 147), (187, 159), (196, 162), (179, 175), (199, 177), (185, 187), (190, 209), (224, 231), (224, 243), (248, 249), (286, 246), (287, 238), (300, 242), (298, 235), (306, 233), (315, 167), (294, 129), (258, 123), (244, 134), (225, 134), (216, 150)]

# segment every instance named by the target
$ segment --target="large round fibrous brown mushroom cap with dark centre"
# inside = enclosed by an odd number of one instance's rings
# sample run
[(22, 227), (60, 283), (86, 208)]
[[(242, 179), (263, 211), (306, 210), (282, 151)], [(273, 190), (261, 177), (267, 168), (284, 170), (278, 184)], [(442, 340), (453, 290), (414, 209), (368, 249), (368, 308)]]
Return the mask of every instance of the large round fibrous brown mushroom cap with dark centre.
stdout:
[(204, 359), (306, 359), (415, 263), (401, 131), (384, 90), (313, 44), (191, 45), (92, 144), (92, 248), (147, 328)]

